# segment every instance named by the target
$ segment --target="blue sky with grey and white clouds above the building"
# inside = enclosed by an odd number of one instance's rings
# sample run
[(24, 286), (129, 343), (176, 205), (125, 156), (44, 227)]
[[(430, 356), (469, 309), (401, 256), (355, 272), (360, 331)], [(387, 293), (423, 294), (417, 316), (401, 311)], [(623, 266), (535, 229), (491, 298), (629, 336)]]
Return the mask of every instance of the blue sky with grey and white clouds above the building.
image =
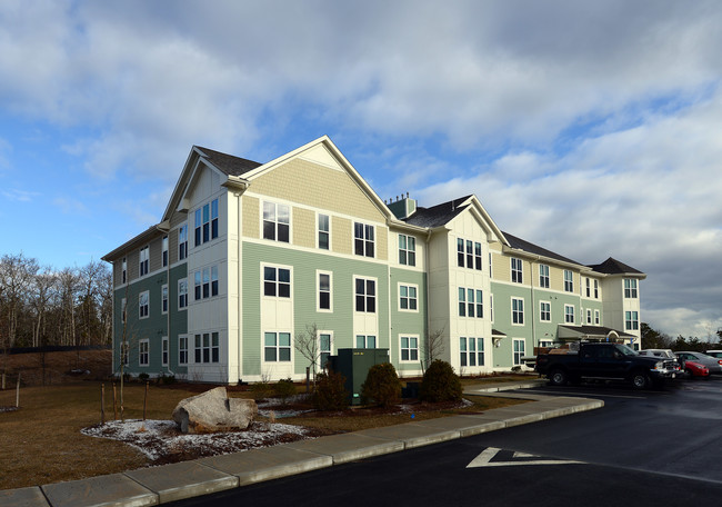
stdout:
[(648, 274), (642, 320), (722, 326), (722, 3), (0, 2), (0, 255), (98, 260), (192, 145), (331, 137), (382, 198)]

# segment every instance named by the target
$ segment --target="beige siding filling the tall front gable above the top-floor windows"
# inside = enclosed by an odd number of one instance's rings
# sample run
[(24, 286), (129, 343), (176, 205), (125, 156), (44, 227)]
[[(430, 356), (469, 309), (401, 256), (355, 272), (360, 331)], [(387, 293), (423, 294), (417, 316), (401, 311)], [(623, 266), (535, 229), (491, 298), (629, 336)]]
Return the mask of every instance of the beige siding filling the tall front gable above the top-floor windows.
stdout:
[(345, 171), (292, 159), (254, 178), (250, 190), (311, 208), (385, 221), (385, 216)]

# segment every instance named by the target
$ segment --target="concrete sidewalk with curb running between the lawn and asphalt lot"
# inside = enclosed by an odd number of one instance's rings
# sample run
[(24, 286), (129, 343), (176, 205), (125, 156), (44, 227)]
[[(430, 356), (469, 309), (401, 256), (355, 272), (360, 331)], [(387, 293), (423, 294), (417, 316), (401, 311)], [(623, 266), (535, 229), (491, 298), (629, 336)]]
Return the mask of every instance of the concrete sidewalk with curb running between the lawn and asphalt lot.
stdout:
[(502, 396), (531, 400), (518, 406), (487, 410), (480, 415), (405, 422), (194, 461), (141, 468), (124, 474), (49, 484), (42, 487), (8, 489), (0, 491), (0, 506), (159, 505), (604, 406), (601, 400), (588, 398), (542, 396), (532, 392), (500, 394), (504, 390), (535, 387), (543, 382), (545, 380), (533, 379), (497, 386), (467, 387), (464, 396)]

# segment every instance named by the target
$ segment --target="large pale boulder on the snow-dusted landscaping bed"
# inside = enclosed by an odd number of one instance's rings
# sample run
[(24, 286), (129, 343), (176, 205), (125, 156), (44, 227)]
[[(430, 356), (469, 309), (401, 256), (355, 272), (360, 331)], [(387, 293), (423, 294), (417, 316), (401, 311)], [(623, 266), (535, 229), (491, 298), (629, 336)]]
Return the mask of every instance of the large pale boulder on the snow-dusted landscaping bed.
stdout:
[(173, 420), (182, 433), (209, 433), (245, 429), (258, 415), (252, 399), (229, 398), (224, 387), (181, 400)]

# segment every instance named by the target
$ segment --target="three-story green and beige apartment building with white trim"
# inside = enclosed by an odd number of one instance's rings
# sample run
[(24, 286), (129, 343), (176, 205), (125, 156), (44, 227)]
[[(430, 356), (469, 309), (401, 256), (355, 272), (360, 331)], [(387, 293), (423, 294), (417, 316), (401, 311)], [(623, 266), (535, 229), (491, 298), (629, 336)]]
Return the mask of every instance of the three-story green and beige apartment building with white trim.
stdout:
[(639, 346), (640, 281), (498, 228), (479, 199), (382, 200), (328, 137), (267, 163), (193, 147), (160, 222), (113, 266), (113, 369), (235, 384), (305, 376), (339, 348), (385, 348), (401, 376), (430, 344), (464, 375), (534, 347)]

